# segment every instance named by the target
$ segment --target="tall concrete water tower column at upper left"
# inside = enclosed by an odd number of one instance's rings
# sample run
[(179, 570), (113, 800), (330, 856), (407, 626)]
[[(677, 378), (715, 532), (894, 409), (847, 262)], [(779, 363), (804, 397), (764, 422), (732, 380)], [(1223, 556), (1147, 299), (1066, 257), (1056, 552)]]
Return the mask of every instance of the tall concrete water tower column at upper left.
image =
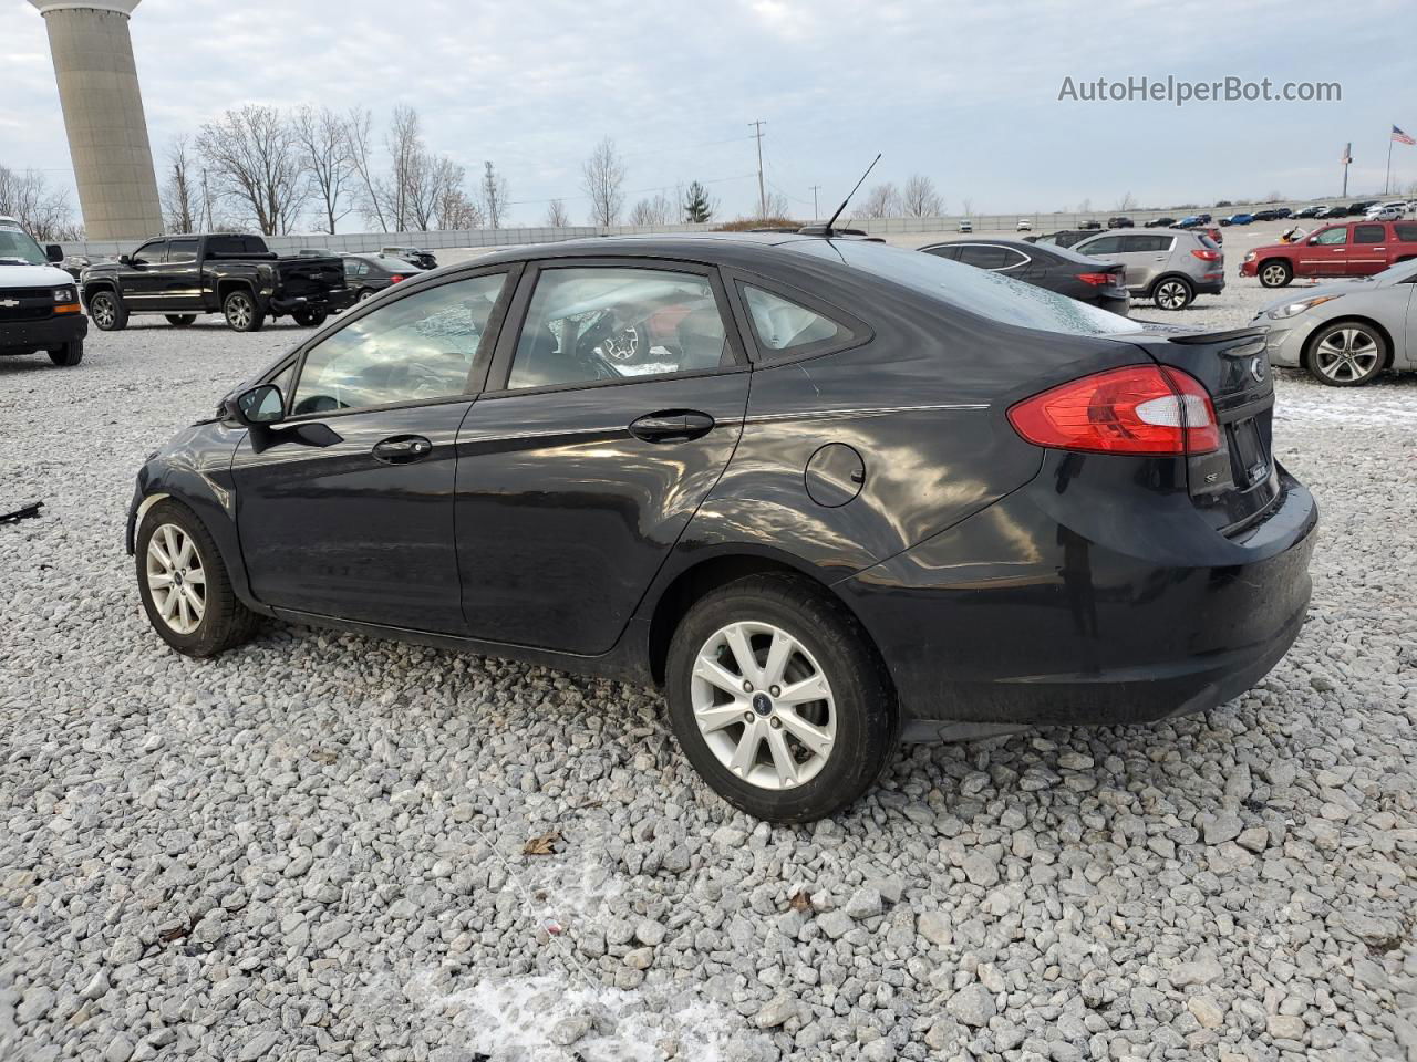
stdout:
[(139, 0), (30, 0), (50, 30), (69, 159), (89, 239), (163, 231), (128, 17)]

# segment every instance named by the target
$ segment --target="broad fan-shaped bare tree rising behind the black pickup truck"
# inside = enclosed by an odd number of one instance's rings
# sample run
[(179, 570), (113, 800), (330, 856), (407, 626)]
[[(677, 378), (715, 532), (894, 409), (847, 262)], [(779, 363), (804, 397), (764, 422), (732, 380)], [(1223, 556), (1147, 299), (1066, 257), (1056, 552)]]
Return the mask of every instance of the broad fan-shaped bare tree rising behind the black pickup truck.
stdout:
[(305, 202), (305, 167), (289, 122), (272, 106), (247, 103), (208, 122), (197, 150), (218, 191), (264, 235), (289, 232)]

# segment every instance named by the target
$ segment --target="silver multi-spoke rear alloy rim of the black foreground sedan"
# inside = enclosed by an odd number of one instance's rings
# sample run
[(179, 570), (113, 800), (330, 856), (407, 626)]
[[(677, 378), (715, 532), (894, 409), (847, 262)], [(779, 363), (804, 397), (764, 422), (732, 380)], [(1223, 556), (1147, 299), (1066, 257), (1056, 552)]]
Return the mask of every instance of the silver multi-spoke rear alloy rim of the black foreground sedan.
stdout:
[(826, 673), (771, 623), (730, 623), (694, 658), (694, 722), (714, 758), (744, 782), (784, 790), (811, 782), (836, 745)]

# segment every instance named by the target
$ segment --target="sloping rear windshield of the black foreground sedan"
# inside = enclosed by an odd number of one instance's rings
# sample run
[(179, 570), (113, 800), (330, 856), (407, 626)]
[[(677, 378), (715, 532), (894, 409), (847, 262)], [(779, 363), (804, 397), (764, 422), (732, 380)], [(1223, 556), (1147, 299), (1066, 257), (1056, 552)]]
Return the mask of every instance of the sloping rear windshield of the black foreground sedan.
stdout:
[(1002, 273), (959, 265), (918, 251), (856, 241), (803, 239), (794, 251), (845, 262), (927, 295), (951, 307), (1005, 324), (1071, 336), (1141, 331), (1141, 326), (1066, 295), (1015, 280)]

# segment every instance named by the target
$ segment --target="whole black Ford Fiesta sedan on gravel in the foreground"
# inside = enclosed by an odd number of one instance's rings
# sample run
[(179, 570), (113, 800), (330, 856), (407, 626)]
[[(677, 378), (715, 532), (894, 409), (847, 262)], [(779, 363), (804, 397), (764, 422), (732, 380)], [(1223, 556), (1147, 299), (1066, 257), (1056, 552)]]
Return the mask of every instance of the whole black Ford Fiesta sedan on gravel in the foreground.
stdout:
[(228, 395), (143, 466), (128, 545), (181, 653), (272, 616), (656, 684), (714, 790), (805, 821), (901, 739), (1260, 680), (1316, 523), (1272, 404), (1263, 329), (879, 244), (521, 248)]

